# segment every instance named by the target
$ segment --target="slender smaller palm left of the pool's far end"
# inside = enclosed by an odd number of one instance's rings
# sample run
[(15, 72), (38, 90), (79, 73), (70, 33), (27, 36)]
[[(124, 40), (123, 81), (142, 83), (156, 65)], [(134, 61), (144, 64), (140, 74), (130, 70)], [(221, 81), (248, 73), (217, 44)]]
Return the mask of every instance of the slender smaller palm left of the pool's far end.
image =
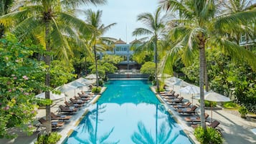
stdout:
[(95, 69), (96, 69), (96, 85), (99, 86), (98, 81), (98, 63), (97, 63), (97, 47), (103, 48), (107, 47), (107, 45), (104, 43), (105, 41), (111, 41), (110, 37), (102, 37), (105, 32), (108, 31), (111, 27), (113, 27), (116, 23), (109, 24), (105, 27), (104, 24), (101, 24), (101, 16), (103, 14), (103, 11), (96, 11), (94, 12), (92, 9), (89, 9), (85, 11), (86, 15), (86, 22), (87, 24), (90, 24), (93, 27), (93, 32), (91, 34), (90, 38), (90, 44), (93, 47), (94, 52), (94, 59), (95, 59)]

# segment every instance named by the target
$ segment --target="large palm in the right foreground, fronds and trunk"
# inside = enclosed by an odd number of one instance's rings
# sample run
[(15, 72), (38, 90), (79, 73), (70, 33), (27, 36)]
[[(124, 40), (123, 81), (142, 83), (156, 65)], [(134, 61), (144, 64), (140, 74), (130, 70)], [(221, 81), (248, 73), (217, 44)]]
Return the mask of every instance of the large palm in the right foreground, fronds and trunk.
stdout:
[[(199, 86), (200, 86), (200, 107), (201, 107), (201, 125), (206, 130), (204, 118), (204, 59), (205, 49), (207, 47), (218, 48), (224, 54), (229, 54), (234, 59), (242, 59), (247, 61), (252, 69), (256, 69), (253, 63), (256, 57), (236, 42), (230, 42), (227, 35), (228, 32), (240, 30), (237, 24), (247, 24), (248, 21), (255, 19), (255, 9), (250, 11), (242, 11), (229, 15), (217, 15), (219, 5), (214, 0), (199, 1), (161, 1), (161, 7), (169, 11), (176, 11), (179, 19), (175, 19), (179, 26), (170, 30), (171, 37), (174, 38), (173, 47), (169, 52), (169, 60), (174, 62), (178, 58), (176, 54), (180, 54), (185, 64), (188, 60), (192, 61), (195, 53), (199, 50)], [(229, 29), (229, 31), (228, 31)]]

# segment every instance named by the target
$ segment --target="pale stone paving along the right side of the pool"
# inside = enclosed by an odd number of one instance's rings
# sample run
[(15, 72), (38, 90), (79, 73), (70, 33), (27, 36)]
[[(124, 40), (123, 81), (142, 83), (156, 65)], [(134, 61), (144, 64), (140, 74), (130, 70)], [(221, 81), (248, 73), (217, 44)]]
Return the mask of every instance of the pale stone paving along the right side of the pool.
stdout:
[[(172, 87), (172, 86), (171, 86)], [(155, 89), (155, 87), (153, 87)], [(185, 101), (191, 102), (191, 95), (183, 94), (179, 92), (180, 87), (174, 85), (174, 91), (179, 93), (182, 97), (184, 97)], [(155, 92), (155, 91), (154, 91)], [(156, 95), (158, 95), (156, 93)], [(160, 96), (159, 96), (160, 97)], [(198, 106), (196, 112), (200, 113), (199, 102), (198, 100), (193, 100), (194, 105)], [(191, 139), (195, 139), (194, 137), (194, 129), (191, 128), (190, 123), (186, 123), (184, 117), (189, 115), (180, 115), (173, 107), (164, 102), (167, 108), (169, 108), (170, 112), (174, 114), (176, 117), (175, 120), (179, 120), (179, 124), (181, 128), (184, 128), (186, 133), (189, 133), (189, 137)], [(211, 114), (211, 110), (205, 110), (209, 115)], [(240, 116), (234, 115), (231, 112), (228, 112), (227, 109), (223, 110), (213, 110), (212, 111), (213, 120), (219, 121), (219, 128), (222, 130), (222, 138), (224, 138), (224, 144), (252, 144), (256, 143), (256, 135), (252, 133), (252, 128), (256, 128), (256, 122), (250, 121), (241, 118)], [(209, 116), (210, 120), (211, 116)], [(186, 133), (186, 134), (187, 134)], [(194, 137), (194, 138), (193, 138)]]

